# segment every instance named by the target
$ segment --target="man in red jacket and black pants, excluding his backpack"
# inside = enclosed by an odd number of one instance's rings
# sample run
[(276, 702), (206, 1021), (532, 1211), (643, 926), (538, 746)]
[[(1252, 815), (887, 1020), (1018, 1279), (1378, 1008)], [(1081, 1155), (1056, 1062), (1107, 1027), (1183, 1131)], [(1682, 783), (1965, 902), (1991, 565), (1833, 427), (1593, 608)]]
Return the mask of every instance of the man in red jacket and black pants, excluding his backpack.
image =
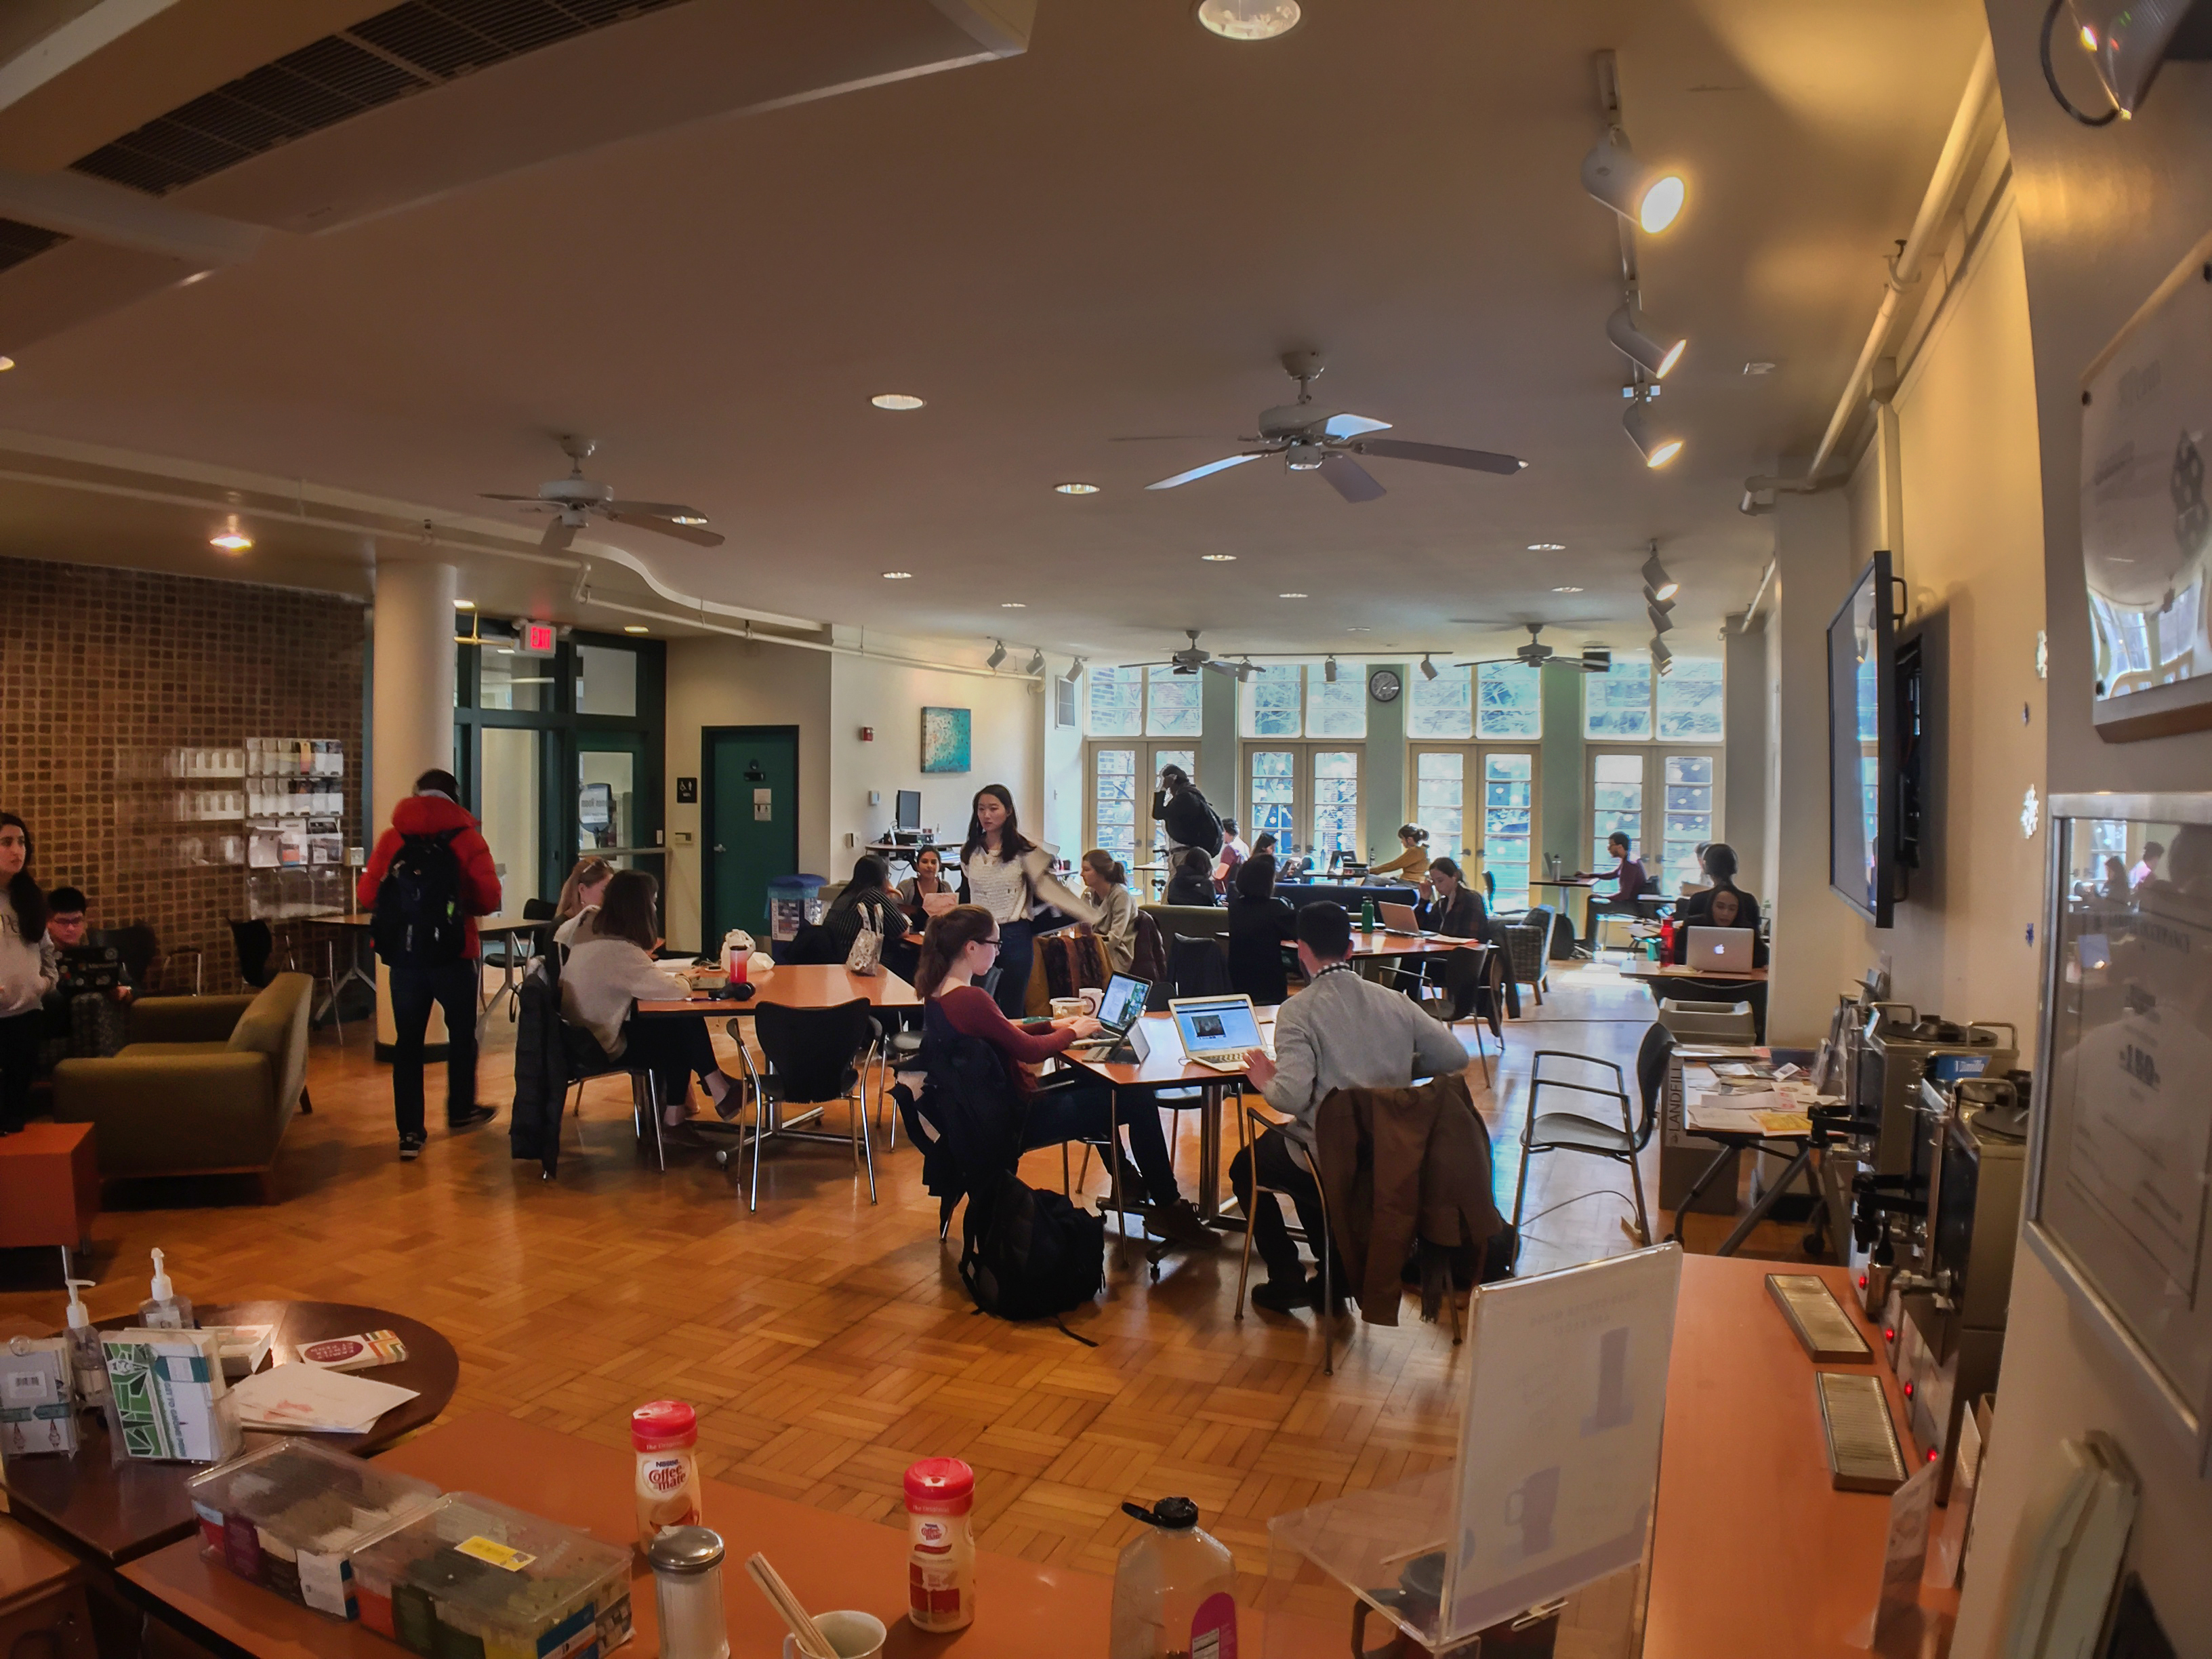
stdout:
[(500, 872), (476, 818), (460, 805), (460, 783), (451, 772), (425, 772), (416, 779), (416, 792), (392, 807), (392, 827), (376, 838), (369, 867), (361, 872), (361, 909), (376, 909), (392, 860), (409, 845), (425, 860), (440, 860), (442, 854), (434, 849), (442, 845), (458, 865), (462, 936), (458, 960), (385, 962), (392, 973), (392, 1115), (400, 1126), (403, 1164), (411, 1164), (429, 1139), (422, 1128), (422, 1037), (434, 1002), (445, 1009), (445, 1126), (476, 1128), (493, 1117), (489, 1106), (476, 1104), (476, 1002), (484, 989), (476, 918), (500, 909)]

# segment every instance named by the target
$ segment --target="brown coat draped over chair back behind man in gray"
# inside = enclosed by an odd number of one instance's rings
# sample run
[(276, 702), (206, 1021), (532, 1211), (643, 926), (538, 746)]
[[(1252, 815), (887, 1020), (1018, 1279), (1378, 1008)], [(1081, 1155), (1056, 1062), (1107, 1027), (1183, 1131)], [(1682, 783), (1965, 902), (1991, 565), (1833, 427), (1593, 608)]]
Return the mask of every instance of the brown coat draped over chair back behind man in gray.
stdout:
[(1316, 1117), (1329, 1237), (1369, 1325), (1396, 1325), (1416, 1241), (1478, 1252), (1504, 1230), (1491, 1201), (1491, 1133), (1464, 1077), (1334, 1088)]

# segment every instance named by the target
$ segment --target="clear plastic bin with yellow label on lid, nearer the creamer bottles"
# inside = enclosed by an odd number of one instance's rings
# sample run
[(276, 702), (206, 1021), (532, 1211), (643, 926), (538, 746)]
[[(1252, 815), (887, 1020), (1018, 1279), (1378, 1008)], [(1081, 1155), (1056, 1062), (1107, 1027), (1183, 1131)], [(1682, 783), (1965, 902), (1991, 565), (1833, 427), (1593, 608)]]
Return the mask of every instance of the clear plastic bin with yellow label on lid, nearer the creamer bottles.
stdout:
[(354, 1555), (361, 1624), (431, 1659), (597, 1659), (630, 1639), (630, 1551), (453, 1493)]

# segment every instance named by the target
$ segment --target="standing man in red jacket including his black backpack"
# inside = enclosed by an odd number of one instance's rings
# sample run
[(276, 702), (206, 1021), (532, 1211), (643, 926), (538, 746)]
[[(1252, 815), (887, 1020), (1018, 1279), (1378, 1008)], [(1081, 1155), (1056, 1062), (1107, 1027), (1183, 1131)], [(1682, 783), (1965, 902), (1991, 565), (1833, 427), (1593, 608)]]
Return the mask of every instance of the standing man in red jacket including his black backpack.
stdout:
[(476, 818), (460, 805), (460, 783), (431, 768), (416, 792), (392, 807), (354, 894), (376, 916), (376, 956), (392, 973), (392, 1115), (400, 1161), (411, 1164), (422, 1128), (422, 1037), (431, 1004), (445, 1009), (445, 1126), (489, 1124), (476, 1104), (476, 1002), (482, 947), (476, 918), (500, 909), (500, 872)]

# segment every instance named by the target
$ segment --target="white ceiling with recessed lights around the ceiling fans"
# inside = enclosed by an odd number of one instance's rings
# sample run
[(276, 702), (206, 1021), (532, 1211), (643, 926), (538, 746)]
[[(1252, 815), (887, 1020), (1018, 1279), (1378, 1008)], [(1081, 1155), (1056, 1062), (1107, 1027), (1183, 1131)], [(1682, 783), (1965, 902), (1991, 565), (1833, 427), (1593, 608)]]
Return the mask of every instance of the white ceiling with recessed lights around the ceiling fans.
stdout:
[[(551, 434), (588, 431), (595, 476), (730, 538), (615, 526), (666, 586), (1095, 659), (1186, 626), (1217, 650), (1498, 641), (1455, 617), (1632, 646), (1650, 538), (1683, 580), (1677, 646), (1710, 637), (1772, 542), (1736, 513), (1741, 480), (1818, 438), (1980, 7), (1305, 9), (1239, 46), (1188, 0), (1042, 0), (1020, 58), (276, 241), (24, 352), (0, 427), (447, 518), (557, 476)], [(1601, 46), (1639, 153), (1692, 186), (1644, 241), (1646, 305), (1690, 336), (1663, 400), (1690, 447), (1657, 476), (1604, 338), (1615, 221), (1577, 186)], [(1287, 400), (1276, 354), (1298, 345), (1327, 352), (1332, 407), (1528, 469), (1376, 460), (1389, 495), (1358, 507), (1274, 462), (1141, 489), (1234, 451)], [(1752, 358), (1778, 369), (1745, 378)], [(929, 407), (883, 414), (874, 392)], [(1117, 442), (1152, 434), (1190, 436)], [(1053, 493), (1071, 478), (1102, 493)], [(55, 557), (82, 531), (73, 555), (115, 557), (95, 500), (0, 478), (0, 551)], [(206, 515), (170, 511), (179, 568), (206, 564)], [(128, 518), (131, 562), (157, 560), (159, 511)], [(230, 566), (358, 584), (363, 546), (301, 544), (296, 571), (285, 546)]]

